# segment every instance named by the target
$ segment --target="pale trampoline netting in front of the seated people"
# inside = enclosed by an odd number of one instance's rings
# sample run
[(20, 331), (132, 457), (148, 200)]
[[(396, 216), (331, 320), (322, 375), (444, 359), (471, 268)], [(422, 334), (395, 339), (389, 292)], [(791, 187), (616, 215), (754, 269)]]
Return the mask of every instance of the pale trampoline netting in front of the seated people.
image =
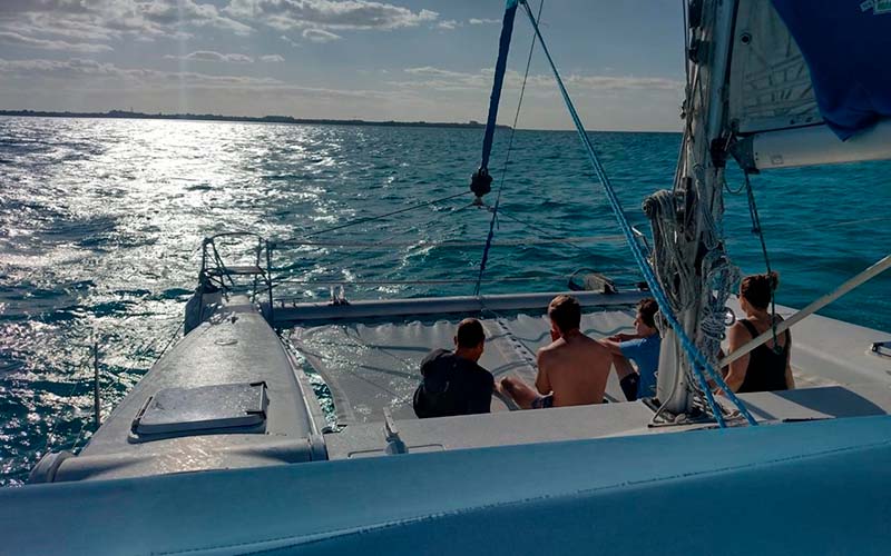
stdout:
[[(295, 327), (292, 340), (331, 389), (342, 425), (383, 420), (383, 408), (396, 419), (413, 418), (411, 399), (421, 378), (420, 364), (432, 349), (453, 348), (460, 319), (404, 324), (333, 324)], [(595, 338), (631, 329), (634, 309), (590, 312), (581, 329)], [(482, 319), (486, 350), (480, 365), (496, 379), (516, 375), (532, 384), (536, 351), (550, 342), (546, 316), (517, 315)], [(624, 399), (615, 373), (607, 397)], [(507, 406), (492, 398), (492, 410)]]

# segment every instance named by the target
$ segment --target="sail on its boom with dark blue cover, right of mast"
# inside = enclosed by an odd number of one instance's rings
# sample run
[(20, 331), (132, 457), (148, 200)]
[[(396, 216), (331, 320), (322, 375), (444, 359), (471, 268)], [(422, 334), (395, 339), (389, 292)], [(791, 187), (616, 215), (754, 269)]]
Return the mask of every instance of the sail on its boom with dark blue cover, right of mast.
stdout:
[(743, 168), (891, 158), (888, 51), (887, 0), (741, 0), (727, 118)]

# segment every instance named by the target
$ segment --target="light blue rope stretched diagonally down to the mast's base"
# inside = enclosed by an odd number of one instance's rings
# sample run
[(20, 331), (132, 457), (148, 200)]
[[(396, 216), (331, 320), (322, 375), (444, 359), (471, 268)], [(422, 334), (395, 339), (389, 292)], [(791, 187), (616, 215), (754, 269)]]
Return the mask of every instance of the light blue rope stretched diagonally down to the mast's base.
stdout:
[(708, 388), (708, 384), (705, 378), (705, 374), (703, 369), (705, 369), (712, 378), (717, 383), (718, 387), (721, 387), (727, 397), (733, 401), (734, 405), (740, 409), (740, 413), (745, 416), (746, 420), (750, 425), (757, 425), (755, 419), (745, 408), (743, 403), (734, 396), (733, 391), (727, 387), (724, 383), (724, 379), (721, 377), (719, 374), (715, 373), (712, 366), (708, 364), (708, 360), (705, 356), (699, 351), (696, 345), (689, 339), (689, 337), (684, 331), (684, 328), (677, 321), (674, 312), (672, 311), (672, 306), (668, 304), (668, 299), (665, 296), (665, 291), (662, 289), (662, 285), (656, 279), (655, 274), (653, 272), (653, 268), (649, 266), (649, 262), (644, 257), (644, 254), (640, 251), (640, 247), (637, 245), (634, 238), (634, 232), (631, 231), (631, 227), (628, 224), (628, 219), (625, 217), (625, 211), (621, 208), (621, 203), (619, 203), (618, 198), (616, 197), (616, 192), (613, 190), (613, 186), (609, 182), (609, 178), (604, 170), (600, 160), (597, 158), (597, 153), (594, 151), (594, 146), (591, 145), (590, 138), (588, 133), (585, 131), (585, 127), (581, 123), (581, 119), (576, 111), (576, 108), (572, 106), (572, 100), (569, 98), (569, 93), (564, 86), (564, 81), (560, 78), (559, 71), (557, 71), (557, 66), (554, 63), (554, 59), (548, 51), (547, 44), (545, 44), (545, 39), (541, 37), (541, 31), (538, 28), (538, 23), (536, 22), (536, 18), (532, 16), (532, 11), (529, 8), (529, 4), (526, 0), (520, 0), (523, 8), (526, 9), (526, 13), (529, 17), (529, 22), (532, 24), (532, 28), (536, 31), (536, 37), (538, 37), (538, 41), (541, 43), (541, 50), (545, 52), (545, 56), (548, 59), (548, 63), (550, 64), (551, 70), (554, 71), (554, 78), (557, 80), (557, 86), (560, 88), (560, 95), (564, 98), (564, 102), (566, 103), (567, 110), (569, 110), (569, 116), (572, 118), (572, 122), (576, 126), (576, 131), (578, 131), (579, 138), (581, 139), (581, 143), (584, 145), (585, 149), (588, 153), (588, 159), (594, 167), (594, 171), (597, 175), (597, 179), (604, 186), (604, 190), (606, 191), (607, 199), (609, 199), (609, 205), (613, 208), (613, 212), (616, 215), (616, 219), (618, 220), (619, 228), (621, 228), (623, 235), (625, 235), (625, 239), (628, 241), (628, 246), (631, 249), (631, 255), (634, 256), (637, 266), (640, 267), (640, 271), (644, 275), (644, 278), (649, 286), (649, 290), (653, 292), (653, 297), (656, 299), (656, 302), (659, 306), (659, 310), (662, 311), (665, 319), (675, 330), (678, 339), (681, 340), (681, 345), (683, 346), (684, 350), (687, 353), (687, 356), (691, 358), (693, 363), (693, 371), (696, 375), (696, 379), (699, 383), (699, 387), (702, 388), (703, 393), (705, 394), (706, 401), (708, 403), (708, 407), (712, 409), (712, 414), (715, 416), (718, 426), (726, 427), (726, 423), (724, 421), (724, 417), (722, 416), (721, 411), (718, 410), (717, 404), (715, 401), (714, 396), (712, 396), (712, 390)]

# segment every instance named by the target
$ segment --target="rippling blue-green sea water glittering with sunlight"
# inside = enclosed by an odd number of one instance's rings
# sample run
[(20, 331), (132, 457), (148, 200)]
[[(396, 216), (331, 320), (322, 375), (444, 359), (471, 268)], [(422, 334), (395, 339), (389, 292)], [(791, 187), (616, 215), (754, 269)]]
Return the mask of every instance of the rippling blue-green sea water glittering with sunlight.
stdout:
[[(508, 133), (496, 135), (502, 218), (482, 291), (561, 290), (580, 268), (639, 280), (575, 133), (518, 131), (506, 163)], [(282, 296), (326, 298), (340, 281), (352, 299), (472, 294), (490, 212), (470, 206), (470, 193), (430, 201), (467, 190), (481, 138), (0, 118), (0, 485), (22, 484), (48, 449), (89, 439), (94, 345), (108, 415), (179, 334), (205, 236), (249, 230), (282, 241)], [(593, 138), (629, 219), (648, 231), (640, 202), (670, 187), (681, 136)], [(889, 176), (891, 162), (873, 162), (753, 178), (779, 302), (803, 307), (889, 252)], [(415, 205), (312, 238), (323, 245), (284, 241)], [(745, 272), (763, 271), (745, 196), (728, 193), (726, 207), (731, 256)], [(577, 239), (546, 241), (555, 237)], [(891, 334), (889, 292), (891, 276), (881, 276), (821, 312)]]

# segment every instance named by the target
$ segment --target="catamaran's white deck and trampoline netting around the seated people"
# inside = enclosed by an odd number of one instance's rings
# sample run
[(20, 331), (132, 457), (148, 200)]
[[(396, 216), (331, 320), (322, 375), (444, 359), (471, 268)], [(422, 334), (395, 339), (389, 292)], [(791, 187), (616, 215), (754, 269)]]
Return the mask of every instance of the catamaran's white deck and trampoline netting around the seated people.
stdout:
[[(643, 296), (645, 294), (628, 294), (610, 301), (610, 296), (581, 294), (584, 304), (589, 305), (582, 315), (582, 330), (596, 338), (631, 330), (634, 302)], [(597, 301), (603, 305), (597, 306)], [(402, 301), (408, 306), (411, 302)], [(467, 299), (464, 302), (471, 304)], [(423, 306), (422, 301), (420, 307)], [(411, 399), (420, 380), (420, 361), (431, 349), (452, 347), (452, 335), (461, 318), (476, 316), (483, 322), (487, 331), (486, 351), (480, 360), (483, 367), (496, 378), (512, 374), (531, 384), (536, 375), (535, 354), (550, 341), (544, 311), (497, 312), (483, 308), (460, 315), (341, 321), (336, 319), (339, 308), (335, 306), (327, 306), (324, 311), (315, 307), (322, 311), (319, 314), (310, 306), (304, 309), (307, 320), (294, 322), (292, 342), (327, 384), (337, 424), (345, 426), (325, 435), (330, 459), (385, 455), (391, 449), (385, 441), (385, 411), (392, 415), (390, 426), (396, 427), (409, 451), (712, 426), (686, 423), (685, 427), (650, 427), (655, 407), (645, 401), (625, 401), (615, 373), (609, 377), (607, 403), (599, 406), (521, 411), (493, 398), (492, 415), (419, 420)], [(344, 312), (362, 312), (369, 306), (344, 306), (343, 309)], [(779, 311), (787, 317), (794, 309), (780, 307)], [(298, 312), (300, 309), (295, 309), (292, 318)], [(833, 341), (834, 338), (846, 338), (844, 346)], [(870, 349), (881, 339), (875, 330), (813, 316), (793, 331), (792, 364), (797, 389), (746, 394), (741, 398), (762, 423), (888, 415), (891, 411), (891, 359)], [(862, 346), (862, 350), (851, 346)], [(732, 409), (730, 403), (722, 403)]]

